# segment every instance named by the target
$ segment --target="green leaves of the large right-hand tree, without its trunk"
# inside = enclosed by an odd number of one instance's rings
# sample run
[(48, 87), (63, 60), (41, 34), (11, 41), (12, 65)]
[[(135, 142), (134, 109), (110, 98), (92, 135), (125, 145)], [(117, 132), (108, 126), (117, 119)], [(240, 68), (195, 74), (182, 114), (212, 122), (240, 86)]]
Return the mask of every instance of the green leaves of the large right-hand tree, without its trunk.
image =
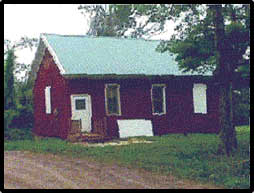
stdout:
[[(137, 26), (135, 20), (129, 21), (129, 24), (132, 23), (129, 26), (133, 27), (134, 32), (132, 34), (135, 37), (147, 35), (152, 30), (163, 31), (166, 20), (180, 21), (175, 27), (176, 33), (171, 37), (171, 40), (162, 42), (157, 50), (175, 53), (179, 67), (184, 71), (201, 73), (214, 71), (217, 66), (214, 38), (215, 22), (212, 11), (214, 7), (204, 4), (111, 5), (111, 9), (117, 10), (119, 13), (123, 13), (124, 8), (128, 8), (124, 18), (128, 18), (128, 15), (143, 15), (148, 18), (143, 26)], [(230, 44), (231, 54), (228, 56), (230, 57), (228, 61), (230, 61), (232, 71), (234, 71), (240, 65), (246, 64), (242, 55), (249, 46), (249, 6), (227, 4), (222, 7), (222, 16), (224, 21), (229, 23), (225, 28), (225, 42)], [(159, 27), (157, 29), (147, 28), (151, 23), (157, 23)], [(122, 25), (119, 29), (123, 28), (126, 26)], [(246, 68), (244, 67), (244, 69)]]

